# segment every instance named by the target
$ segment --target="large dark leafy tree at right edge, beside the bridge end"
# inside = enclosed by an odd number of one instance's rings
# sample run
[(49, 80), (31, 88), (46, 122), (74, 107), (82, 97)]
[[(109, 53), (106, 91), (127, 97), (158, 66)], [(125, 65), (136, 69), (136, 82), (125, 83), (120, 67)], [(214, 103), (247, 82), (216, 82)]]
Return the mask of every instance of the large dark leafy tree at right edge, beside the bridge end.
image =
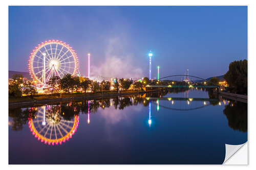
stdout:
[(224, 79), (234, 92), (247, 94), (247, 60), (231, 62)]

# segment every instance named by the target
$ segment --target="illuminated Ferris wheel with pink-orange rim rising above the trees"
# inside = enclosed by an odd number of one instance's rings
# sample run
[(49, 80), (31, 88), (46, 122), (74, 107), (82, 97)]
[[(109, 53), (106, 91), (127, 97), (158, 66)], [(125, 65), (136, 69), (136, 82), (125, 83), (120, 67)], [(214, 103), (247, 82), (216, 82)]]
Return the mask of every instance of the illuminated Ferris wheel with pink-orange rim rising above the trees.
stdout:
[(29, 57), (29, 72), (33, 80), (46, 84), (52, 75), (62, 78), (76, 75), (79, 69), (77, 54), (69, 44), (49, 40), (38, 44)]

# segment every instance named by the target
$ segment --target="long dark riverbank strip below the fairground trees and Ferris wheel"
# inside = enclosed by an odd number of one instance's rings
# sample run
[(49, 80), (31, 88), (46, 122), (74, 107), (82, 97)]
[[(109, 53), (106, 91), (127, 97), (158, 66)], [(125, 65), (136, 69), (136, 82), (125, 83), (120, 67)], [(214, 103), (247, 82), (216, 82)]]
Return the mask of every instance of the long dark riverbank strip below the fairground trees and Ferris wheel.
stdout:
[(158, 92), (160, 90), (150, 90), (150, 91), (135, 91), (135, 90), (127, 90), (121, 91), (117, 93), (116, 91), (108, 91), (101, 93), (62, 93), (60, 94), (39, 94), (34, 96), (33, 98), (22, 97), (22, 98), (9, 98), (9, 107), (16, 107), (16, 106), (31, 106), (31, 105), (40, 105), (40, 104), (49, 104), (55, 102), (62, 102), (62, 101), (72, 101), (72, 100), (83, 100), (83, 99), (106, 99), (106, 98), (113, 98), (115, 96), (126, 96), (126, 95), (136, 95), (136, 94), (144, 94), (144, 93), (151, 93), (151, 92)]

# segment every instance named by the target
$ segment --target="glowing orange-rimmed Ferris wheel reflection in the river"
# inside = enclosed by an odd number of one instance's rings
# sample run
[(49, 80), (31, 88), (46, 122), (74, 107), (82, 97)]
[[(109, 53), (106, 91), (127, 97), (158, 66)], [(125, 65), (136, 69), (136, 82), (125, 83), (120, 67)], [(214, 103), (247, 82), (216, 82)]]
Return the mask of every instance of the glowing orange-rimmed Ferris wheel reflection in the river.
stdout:
[[(61, 118), (60, 106), (42, 106), (38, 108), (35, 118), (29, 119), (32, 134), (45, 144), (62, 144), (76, 132), (79, 116), (71, 120)], [(62, 113), (63, 114), (63, 113)]]

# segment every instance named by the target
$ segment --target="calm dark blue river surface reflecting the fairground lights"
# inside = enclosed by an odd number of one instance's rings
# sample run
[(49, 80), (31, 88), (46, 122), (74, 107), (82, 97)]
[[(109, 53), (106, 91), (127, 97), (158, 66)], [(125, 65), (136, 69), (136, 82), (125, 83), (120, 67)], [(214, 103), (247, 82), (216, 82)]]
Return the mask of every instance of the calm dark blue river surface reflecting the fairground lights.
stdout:
[(222, 164), (246, 141), (247, 104), (200, 89), (9, 109), (10, 164)]

